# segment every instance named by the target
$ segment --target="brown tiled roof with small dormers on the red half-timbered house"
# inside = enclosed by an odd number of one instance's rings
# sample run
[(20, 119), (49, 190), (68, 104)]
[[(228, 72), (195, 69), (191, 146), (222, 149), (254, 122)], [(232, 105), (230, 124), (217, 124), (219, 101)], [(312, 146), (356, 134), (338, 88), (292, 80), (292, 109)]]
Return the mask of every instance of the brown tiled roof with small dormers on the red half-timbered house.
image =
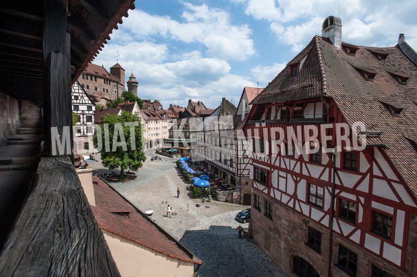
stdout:
[[(252, 104), (332, 97), (350, 126), (360, 121), (368, 130), (382, 131), (371, 142), (386, 147), (385, 153), (417, 196), (417, 152), (407, 139), (417, 137), (417, 104), (413, 102), (417, 99), (416, 64), (398, 46), (354, 47), (355, 55), (349, 55), (329, 39), (315, 36), (294, 58), (308, 54), (298, 76), (290, 78), (288, 67), (284, 68)], [(387, 53), (386, 58), (379, 59), (370, 49)], [(369, 81), (357, 68), (373, 69), (377, 74)], [(410, 78), (401, 84), (389, 72), (403, 72)], [(384, 103), (404, 110), (400, 116), (393, 115)]]

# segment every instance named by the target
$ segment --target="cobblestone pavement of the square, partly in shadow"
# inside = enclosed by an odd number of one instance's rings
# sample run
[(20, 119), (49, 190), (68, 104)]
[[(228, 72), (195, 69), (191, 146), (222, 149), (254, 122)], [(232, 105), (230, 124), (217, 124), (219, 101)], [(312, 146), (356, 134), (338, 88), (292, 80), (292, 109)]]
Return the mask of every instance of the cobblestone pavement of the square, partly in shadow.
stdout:
[[(205, 263), (198, 276), (279, 275), (257, 246), (239, 239), (237, 226), (247, 229), (248, 223), (239, 223), (234, 218), (248, 206), (212, 200), (196, 207), (201, 200), (191, 198), (191, 191), (176, 170), (175, 160), (160, 156), (162, 160), (151, 161), (153, 153), (145, 151), (147, 159), (138, 170), (136, 180), (109, 184), (140, 210), (153, 210), (152, 220)], [(100, 160), (91, 166), (103, 168)], [(172, 218), (165, 216), (168, 204), (172, 206)]]

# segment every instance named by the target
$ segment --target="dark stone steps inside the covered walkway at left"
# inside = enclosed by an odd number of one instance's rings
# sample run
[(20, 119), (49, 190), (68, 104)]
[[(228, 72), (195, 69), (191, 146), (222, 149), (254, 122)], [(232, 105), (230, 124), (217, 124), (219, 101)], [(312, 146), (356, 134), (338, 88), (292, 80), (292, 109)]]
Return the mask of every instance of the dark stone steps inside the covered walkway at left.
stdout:
[(39, 128), (18, 128), (0, 149), (0, 171), (36, 169), (43, 132)]

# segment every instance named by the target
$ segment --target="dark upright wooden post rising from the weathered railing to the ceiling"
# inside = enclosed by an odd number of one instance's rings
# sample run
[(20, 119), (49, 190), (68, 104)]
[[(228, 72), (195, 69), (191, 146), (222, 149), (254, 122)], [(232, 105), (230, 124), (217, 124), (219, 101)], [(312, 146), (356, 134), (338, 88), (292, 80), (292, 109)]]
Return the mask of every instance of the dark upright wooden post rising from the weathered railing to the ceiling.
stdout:
[[(48, 156), (70, 155), (72, 149), (71, 109), (71, 58), (70, 35), (67, 33), (67, 0), (44, 0), (43, 65), (44, 65), (44, 154)], [(64, 126), (69, 134), (63, 134)], [(51, 128), (57, 127), (58, 139), (65, 144), (69, 136), (69, 147), (58, 151)], [(53, 153), (53, 144), (57, 150)]]

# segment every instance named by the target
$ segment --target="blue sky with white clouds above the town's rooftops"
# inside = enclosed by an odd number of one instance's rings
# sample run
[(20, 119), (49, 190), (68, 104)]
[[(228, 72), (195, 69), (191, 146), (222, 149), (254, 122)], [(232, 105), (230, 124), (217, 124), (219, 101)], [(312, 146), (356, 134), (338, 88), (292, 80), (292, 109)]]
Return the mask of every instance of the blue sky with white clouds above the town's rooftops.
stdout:
[(136, 0), (94, 61), (133, 71), (141, 98), (215, 108), (237, 105), (244, 86), (264, 87), (302, 50), (329, 15), (340, 15), (342, 40), (393, 46), (398, 34), (417, 49), (417, 1)]

